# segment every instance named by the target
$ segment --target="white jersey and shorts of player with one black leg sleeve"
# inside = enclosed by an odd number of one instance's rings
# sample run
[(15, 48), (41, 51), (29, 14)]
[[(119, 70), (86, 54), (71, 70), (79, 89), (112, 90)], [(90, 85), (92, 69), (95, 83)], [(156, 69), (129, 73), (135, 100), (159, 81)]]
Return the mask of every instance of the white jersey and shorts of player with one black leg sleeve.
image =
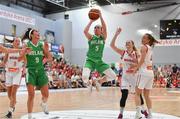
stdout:
[(123, 65), (123, 74), (121, 81), (121, 89), (132, 89), (132, 92), (135, 92), (135, 84), (136, 84), (136, 74), (133, 73), (131, 69), (132, 65), (137, 64), (137, 53), (132, 51), (128, 53), (124, 51), (122, 56), (122, 65)]

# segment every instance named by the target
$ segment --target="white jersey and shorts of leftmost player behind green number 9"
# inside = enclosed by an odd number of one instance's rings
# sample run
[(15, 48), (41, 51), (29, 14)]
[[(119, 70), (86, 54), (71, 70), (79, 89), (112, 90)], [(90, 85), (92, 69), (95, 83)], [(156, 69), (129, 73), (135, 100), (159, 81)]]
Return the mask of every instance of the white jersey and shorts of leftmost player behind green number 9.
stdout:
[(6, 62), (6, 86), (20, 85), (23, 62), (19, 62), (19, 53), (9, 53)]

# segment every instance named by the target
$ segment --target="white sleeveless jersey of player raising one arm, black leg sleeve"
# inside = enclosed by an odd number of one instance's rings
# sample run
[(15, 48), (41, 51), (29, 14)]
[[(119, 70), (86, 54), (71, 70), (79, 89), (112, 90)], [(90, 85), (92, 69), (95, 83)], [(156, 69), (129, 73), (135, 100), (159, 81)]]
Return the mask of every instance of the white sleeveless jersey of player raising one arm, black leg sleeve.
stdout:
[(133, 70), (130, 68), (132, 65), (137, 64), (137, 61), (137, 53), (135, 51), (132, 51), (131, 53), (124, 51), (122, 56), (123, 74), (132, 73)]

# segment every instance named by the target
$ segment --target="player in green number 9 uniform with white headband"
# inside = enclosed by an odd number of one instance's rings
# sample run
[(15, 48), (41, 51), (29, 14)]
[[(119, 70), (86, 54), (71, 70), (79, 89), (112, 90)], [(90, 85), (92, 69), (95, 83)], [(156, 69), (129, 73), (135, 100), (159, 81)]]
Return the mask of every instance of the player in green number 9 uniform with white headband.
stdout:
[(39, 87), (42, 94), (41, 107), (45, 114), (49, 114), (47, 107), (47, 100), (49, 96), (48, 91), (48, 78), (46, 76), (43, 57), (47, 58), (47, 61), (52, 61), (52, 56), (49, 52), (49, 46), (47, 43), (44, 45), (39, 42), (40, 35), (35, 29), (28, 29), (23, 39), (29, 39), (25, 47), (31, 48), (31, 52), (26, 55), (27, 59), (27, 71), (26, 71), (26, 83), (28, 90), (28, 118), (32, 118), (33, 102), (35, 95), (35, 86)]

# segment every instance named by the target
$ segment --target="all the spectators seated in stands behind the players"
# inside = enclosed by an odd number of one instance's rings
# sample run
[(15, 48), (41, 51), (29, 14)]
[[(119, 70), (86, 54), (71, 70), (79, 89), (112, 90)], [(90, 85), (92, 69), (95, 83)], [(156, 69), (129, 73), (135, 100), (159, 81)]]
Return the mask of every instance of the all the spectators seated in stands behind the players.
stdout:
[[(122, 66), (111, 66), (117, 74), (119, 81), (103, 82), (101, 86), (120, 86)], [(49, 79), (49, 89), (86, 88), (82, 80), (82, 67), (72, 65), (63, 58), (54, 59), (51, 64), (45, 64), (45, 70)], [(174, 65), (154, 65), (155, 88), (180, 88), (180, 67)], [(25, 71), (25, 70), (24, 70)], [(23, 76), (25, 77), (25, 72)], [(90, 79), (107, 78), (97, 71), (91, 73)], [(0, 72), (0, 92), (6, 91), (4, 71)]]

